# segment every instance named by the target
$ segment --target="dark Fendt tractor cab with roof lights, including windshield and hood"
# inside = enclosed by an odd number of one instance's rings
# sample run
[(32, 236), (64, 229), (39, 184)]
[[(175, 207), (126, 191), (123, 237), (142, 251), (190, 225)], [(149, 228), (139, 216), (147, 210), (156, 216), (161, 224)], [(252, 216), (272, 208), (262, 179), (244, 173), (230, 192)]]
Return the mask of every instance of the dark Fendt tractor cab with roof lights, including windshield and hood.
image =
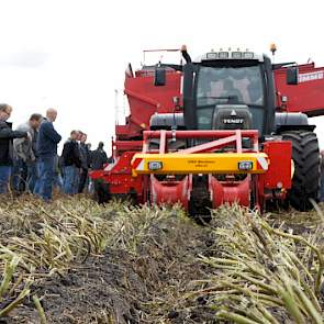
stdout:
[(270, 59), (252, 52), (211, 52), (183, 68), (185, 123), (191, 130), (271, 134), (275, 85)]

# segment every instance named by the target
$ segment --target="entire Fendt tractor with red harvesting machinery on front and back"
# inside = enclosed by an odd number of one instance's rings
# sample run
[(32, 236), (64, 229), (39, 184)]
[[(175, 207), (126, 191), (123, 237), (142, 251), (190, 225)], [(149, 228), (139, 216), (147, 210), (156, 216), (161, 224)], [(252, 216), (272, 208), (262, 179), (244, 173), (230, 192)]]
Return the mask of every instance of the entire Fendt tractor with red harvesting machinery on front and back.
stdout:
[(125, 76), (131, 113), (115, 126), (113, 163), (96, 197), (181, 203), (204, 216), (224, 203), (262, 211), (317, 200), (320, 153), (308, 115), (323, 113), (324, 69), (272, 64), (248, 51), (210, 52)]

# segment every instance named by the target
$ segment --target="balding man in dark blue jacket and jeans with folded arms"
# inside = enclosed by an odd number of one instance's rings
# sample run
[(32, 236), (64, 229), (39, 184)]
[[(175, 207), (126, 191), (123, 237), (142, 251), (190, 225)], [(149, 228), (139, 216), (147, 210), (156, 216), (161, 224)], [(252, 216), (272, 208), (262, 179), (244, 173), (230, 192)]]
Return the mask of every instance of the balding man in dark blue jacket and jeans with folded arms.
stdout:
[(55, 109), (46, 111), (46, 119), (41, 124), (36, 144), (40, 161), (40, 195), (46, 202), (52, 199), (57, 144), (62, 139), (53, 126), (56, 116), (57, 111)]

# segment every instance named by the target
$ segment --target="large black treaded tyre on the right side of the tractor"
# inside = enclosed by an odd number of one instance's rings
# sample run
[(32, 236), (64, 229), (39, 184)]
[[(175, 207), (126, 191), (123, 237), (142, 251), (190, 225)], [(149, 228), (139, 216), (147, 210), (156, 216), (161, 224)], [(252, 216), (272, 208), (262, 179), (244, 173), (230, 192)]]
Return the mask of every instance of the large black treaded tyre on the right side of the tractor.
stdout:
[(291, 206), (305, 212), (313, 208), (310, 199), (319, 201), (320, 149), (316, 134), (310, 131), (289, 131), (281, 134), (282, 139), (292, 143), (294, 175), (288, 195)]

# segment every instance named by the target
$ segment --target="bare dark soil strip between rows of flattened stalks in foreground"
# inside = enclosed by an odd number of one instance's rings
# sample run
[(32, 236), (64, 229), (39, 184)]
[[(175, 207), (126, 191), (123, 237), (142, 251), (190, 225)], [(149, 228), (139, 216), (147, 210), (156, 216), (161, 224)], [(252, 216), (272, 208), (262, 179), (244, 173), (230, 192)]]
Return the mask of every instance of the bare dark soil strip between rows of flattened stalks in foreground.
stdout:
[[(215, 323), (204, 301), (191, 308), (182, 300), (190, 282), (208, 269), (195, 258), (213, 253), (212, 231), (177, 213), (147, 228), (135, 252), (107, 247), (32, 286), (48, 323)], [(200, 310), (198, 312), (198, 310)], [(25, 300), (0, 323), (40, 323)]]

